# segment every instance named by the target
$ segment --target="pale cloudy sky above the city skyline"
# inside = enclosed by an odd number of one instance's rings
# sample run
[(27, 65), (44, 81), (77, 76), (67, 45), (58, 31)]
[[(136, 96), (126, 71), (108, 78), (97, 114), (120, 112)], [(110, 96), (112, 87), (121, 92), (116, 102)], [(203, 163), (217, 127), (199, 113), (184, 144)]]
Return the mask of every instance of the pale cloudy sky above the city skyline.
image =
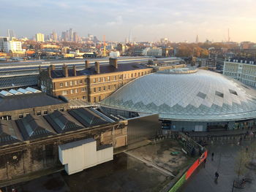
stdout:
[[(0, 0), (0, 36), (33, 37), (73, 28), (81, 37), (138, 41), (256, 42), (255, 0)], [(130, 31), (130, 32), (129, 32)]]

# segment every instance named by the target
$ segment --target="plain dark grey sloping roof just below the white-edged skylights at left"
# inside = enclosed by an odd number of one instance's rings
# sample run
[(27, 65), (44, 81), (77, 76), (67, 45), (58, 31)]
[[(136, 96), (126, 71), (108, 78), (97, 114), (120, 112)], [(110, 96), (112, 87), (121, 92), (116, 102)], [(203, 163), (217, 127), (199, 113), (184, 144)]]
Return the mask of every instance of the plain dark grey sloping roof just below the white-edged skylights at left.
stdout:
[(55, 104), (64, 104), (64, 101), (48, 96), (45, 93), (5, 96), (0, 97), (0, 112), (22, 110)]

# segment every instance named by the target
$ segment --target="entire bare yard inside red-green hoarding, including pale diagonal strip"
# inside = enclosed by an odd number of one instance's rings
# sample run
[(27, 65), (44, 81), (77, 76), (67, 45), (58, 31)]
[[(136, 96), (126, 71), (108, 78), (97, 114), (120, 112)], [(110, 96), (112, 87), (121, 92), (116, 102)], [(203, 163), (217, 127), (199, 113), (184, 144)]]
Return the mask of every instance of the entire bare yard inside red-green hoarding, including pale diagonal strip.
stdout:
[[(178, 152), (172, 155), (171, 152)], [(177, 141), (165, 140), (119, 153), (113, 161), (77, 174), (48, 174), (14, 187), (18, 191), (160, 191), (173, 180), (173, 174), (192, 164), (195, 159), (184, 155)], [(8, 188), (11, 191), (12, 186)], [(4, 191), (4, 190), (3, 190)], [(4, 191), (5, 192), (5, 191)]]

